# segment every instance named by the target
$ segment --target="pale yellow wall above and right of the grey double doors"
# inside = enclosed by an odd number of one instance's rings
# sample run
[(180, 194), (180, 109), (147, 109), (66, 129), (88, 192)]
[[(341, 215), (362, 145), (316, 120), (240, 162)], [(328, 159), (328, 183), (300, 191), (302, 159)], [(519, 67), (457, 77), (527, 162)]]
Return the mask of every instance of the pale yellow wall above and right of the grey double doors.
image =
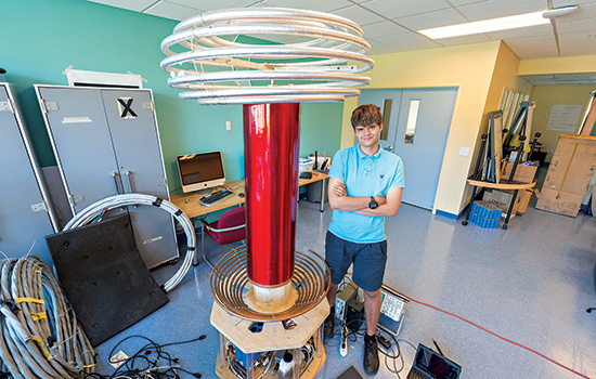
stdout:
[[(466, 178), (475, 157), (461, 156), (459, 148), (470, 147), (472, 152), (477, 144), (500, 49), (500, 41), (491, 41), (373, 55), (376, 65), (370, 73), (372, 83), (367, 88), (457, 87), (435, 210), (452, 214), (462, 210)], [(351, 132), (349, 122), (344, 125), (344, 131), (348, 128)]]

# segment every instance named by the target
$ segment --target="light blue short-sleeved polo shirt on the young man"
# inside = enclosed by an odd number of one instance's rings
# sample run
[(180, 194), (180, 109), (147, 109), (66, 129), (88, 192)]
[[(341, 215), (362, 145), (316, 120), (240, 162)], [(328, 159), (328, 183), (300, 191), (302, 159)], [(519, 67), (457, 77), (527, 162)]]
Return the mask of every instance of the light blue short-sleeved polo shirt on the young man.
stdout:
[[(329, 177), (346, 183), (348, 196), (387, 196), (390, 187), (403, 187), (403, 162), (400, 157), (379, 146), (377, 154), (367, 156), (360, 145), (337, 152)], [(385, 218), (334, 209), (329, 232), (346, 240), (373, 244), (387, 239)]]

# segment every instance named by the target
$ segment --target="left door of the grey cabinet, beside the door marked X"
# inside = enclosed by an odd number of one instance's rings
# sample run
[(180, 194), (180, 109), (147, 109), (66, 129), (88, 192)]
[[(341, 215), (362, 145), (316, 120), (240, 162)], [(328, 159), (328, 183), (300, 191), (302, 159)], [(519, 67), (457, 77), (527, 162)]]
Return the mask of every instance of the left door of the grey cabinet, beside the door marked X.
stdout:
[(121, 193), (100, 90), (36, 89), (73, 214)]

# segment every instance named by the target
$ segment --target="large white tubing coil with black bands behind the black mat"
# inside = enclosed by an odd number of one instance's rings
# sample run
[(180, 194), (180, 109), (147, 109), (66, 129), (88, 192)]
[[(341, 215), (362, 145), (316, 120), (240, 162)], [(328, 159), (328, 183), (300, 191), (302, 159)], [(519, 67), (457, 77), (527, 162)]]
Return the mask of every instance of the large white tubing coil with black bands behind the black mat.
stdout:
[(169, 292), (176, 286), (178, 286), (180, 282), (182, 282), (182, 278), (191, 269), (194, 251), (196, 248), (196, 238), (193, 223), (191, 222), (189, 217), (184, 214), (184, 212), (182, 212), (182, 210), (178, 209), (178, 207), (176, 207), (170, 201), (164, 200), (156, 196), (142, 194), (125, 194), (106, 197), (102, 200), (93, 202), (92, 205), (77, 213), (77, 215), (75, 215), (70, 221), (68, 221), (66, 226), (64, 226), (64, 231), (93, 223), (94, 221), (96, 221), (98, 218), (101, 218), (106, 212), (106, 210), (133, 205), (159, 207), (160, 209), (164, 209), (165, 211), (171, 213), (184, 228), (187, 246), (186, 256), (184, 257), (184, 261), (182, 262), (180, 269), (164, 285), (164, 290), (166, 292)]

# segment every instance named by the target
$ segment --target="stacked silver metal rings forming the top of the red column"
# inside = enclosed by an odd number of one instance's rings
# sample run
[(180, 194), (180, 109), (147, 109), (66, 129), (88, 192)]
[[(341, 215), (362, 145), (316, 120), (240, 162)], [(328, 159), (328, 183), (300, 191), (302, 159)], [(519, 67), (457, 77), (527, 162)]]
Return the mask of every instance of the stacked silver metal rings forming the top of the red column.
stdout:
[[(161, 42), (168, 84), (200, 104), (342, 101), (371, 79), (371, 45), (358, 24), (285, 8), (211, 11)], [(259, 89), (259, 90), (257, 90)]]

